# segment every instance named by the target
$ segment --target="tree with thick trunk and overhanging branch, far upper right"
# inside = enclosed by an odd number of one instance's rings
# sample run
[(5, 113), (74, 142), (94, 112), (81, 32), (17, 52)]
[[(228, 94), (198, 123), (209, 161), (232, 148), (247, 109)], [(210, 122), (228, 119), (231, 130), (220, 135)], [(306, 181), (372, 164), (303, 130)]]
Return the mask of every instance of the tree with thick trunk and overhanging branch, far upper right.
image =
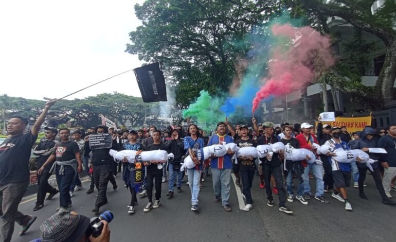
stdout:
[[(323, 16), (338, 16), (356, 29), (364, 30), (380, 38), (386, 47), (384, 66), (377, 79), (372, 95), (379, 100), (394, 99), (393, 83), (396, 78), (396, 30), (393, 29), (396, 2), (385, 0), (385, 4), (374, 14), (372, 0), (299, 0), (304, 7)], [(297, 1), (296, 1), (297, 2)]]

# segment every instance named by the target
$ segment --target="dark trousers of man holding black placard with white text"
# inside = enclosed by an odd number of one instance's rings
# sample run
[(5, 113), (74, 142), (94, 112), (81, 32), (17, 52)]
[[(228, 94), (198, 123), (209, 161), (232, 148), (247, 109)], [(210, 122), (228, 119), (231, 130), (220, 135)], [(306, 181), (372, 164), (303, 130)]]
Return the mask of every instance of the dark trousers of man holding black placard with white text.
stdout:
[[(109, 183), (110, 176), (113, 177), (112, 171), (106, 165), (94, 165), (94, 181), (98, 189), (98, 197), (96, 198), (95, 206), (100, 207), (107, 203), (107, 183)], [(114, 177), (113, 177), (114, 179)]]

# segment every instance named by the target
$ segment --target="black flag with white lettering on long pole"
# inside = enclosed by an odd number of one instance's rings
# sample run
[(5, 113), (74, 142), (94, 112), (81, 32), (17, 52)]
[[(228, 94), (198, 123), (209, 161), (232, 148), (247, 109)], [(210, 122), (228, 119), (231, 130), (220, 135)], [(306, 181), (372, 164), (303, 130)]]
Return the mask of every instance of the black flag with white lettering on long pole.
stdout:
[(159, 62), (135, 68), (143, 102), (167, 101), (165, 77)]

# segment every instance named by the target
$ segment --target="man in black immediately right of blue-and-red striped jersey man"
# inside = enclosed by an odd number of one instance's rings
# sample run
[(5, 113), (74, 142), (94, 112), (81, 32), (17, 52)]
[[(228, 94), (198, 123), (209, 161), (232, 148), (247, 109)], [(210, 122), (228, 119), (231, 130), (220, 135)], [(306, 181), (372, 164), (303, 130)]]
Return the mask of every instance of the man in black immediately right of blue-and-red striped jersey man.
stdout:
[[(240, 140), (237, 140), (235, 142), (238, 147), (256, 147), (256, 141), (253, 139), (249, 139), (249, 129), (247, 128), (247, 126), (241, 126), (239, 130), (242, 137)], [(253, 178), (255, 177), (256, 162), (253, 157), (238, 157), (238, 166), (239, 174), (242, 178), (242, 193), (243, 195), (245, 195), (246, 198), (246, 206), (243, 210), (249, 211), (251, 208), (253, 208), (253, 199), (251, 198), (250, 188), (253, 184)]]

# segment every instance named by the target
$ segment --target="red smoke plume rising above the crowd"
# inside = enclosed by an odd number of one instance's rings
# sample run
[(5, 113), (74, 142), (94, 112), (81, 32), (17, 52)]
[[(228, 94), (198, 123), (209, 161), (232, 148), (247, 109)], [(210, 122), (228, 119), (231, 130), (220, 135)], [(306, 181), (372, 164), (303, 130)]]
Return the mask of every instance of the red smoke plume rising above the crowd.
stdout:
[(329, 37), (321, 36), (313, 28), (294, 28), (285, 24), (274, 25), (271, 29), (274, 36), (290, 38), (293, 44), (286, 52), (281, 50), (284, 46), (274, 50), (268, 63), (268, 76), (264, 78), (267, 81), (253, 99), (253, 113), (261, 100), (294, 92), (309, 83), (314, 76), (314, 57), (321, 58), (325, 67), (335, 63)]

